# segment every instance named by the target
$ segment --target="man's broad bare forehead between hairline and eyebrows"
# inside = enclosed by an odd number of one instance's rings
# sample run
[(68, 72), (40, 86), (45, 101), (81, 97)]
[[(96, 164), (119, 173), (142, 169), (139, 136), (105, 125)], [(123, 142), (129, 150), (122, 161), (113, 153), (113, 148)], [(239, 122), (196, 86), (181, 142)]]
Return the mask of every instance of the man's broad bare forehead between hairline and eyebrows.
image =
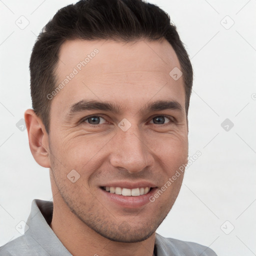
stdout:
[(172, 98), (184, 104), (182, 76), (174, 80), (169, 74), (173, 68), (181, 69), (180, 64), (165, 39), (67, 40), (58, 57), (56, 86), (62, 86), (51, 108), (68, 111), (84, 98), (116, 102), (127, 109), (149, 99)]

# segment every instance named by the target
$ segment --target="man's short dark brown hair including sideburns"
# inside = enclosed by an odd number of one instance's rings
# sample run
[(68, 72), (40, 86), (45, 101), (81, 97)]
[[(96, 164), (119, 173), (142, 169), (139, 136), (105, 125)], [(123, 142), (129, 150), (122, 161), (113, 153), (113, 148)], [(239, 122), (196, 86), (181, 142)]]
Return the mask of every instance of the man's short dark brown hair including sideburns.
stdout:
[(169, 15), (143, 0), (80, 0), (59, 9), (43, 27), (30, 57), (32, 107), (49, 133), (50, 103), (56, 87), (55, 69), (61, 44), (67, 39), (115, 41), (165, 38), (173, 47), (183, 73), (188, 113), (193, 71), (188, 54)]

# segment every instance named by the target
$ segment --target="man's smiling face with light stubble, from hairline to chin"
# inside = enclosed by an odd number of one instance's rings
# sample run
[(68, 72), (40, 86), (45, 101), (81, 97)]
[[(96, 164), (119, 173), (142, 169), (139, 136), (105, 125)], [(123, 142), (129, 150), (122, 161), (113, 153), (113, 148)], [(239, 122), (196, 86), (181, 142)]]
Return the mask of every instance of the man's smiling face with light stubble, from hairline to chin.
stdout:
[[(169, 75), (174, 67), (181, 69), (166, 40), (70, 40), (61, 45), (57, 85), (69, 78), (51, 99), (51, 182), (70, 211), (110, 240), (148, 238), (179, 192), (182, 173), (149, 200), (187, 161), (185, 92), (182, 76)], [(174, 103), (148, 109), (159, 100)], [(104, 105), (87, 109), (85, 101), (107, 102), (116, 111)], [(145, 187), (151, 187), (149, 192), (136, 196)]]

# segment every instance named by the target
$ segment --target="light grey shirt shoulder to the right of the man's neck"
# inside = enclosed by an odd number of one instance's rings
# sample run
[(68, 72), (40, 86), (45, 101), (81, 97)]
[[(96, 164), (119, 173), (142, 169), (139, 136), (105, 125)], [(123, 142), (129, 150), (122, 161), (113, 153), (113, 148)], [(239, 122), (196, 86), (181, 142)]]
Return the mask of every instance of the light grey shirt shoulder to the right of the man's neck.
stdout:
[[(182, 241), (174, 238), (163, 237), (155, 234), (157, 252), (160, 255), (193, 255), (193, 256), (217, 256), (217, 254), (207, 246), (196, 242)], [(172, 255), (171, 254), (171, 255)]]

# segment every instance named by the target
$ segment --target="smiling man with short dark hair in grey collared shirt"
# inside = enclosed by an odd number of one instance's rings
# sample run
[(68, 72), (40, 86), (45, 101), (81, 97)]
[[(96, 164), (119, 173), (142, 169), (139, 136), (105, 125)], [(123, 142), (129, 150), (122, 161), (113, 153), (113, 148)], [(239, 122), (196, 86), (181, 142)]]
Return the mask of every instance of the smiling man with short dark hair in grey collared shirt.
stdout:
[(29, 146), (49, 168), (53, 204), (34, 199), (24, 235), (0, 255), (216, 255), (155, 233), (182, 183), (192, 86), (163, 10), (141, 0), (63, 7), (35, 42), (30, 76)]

